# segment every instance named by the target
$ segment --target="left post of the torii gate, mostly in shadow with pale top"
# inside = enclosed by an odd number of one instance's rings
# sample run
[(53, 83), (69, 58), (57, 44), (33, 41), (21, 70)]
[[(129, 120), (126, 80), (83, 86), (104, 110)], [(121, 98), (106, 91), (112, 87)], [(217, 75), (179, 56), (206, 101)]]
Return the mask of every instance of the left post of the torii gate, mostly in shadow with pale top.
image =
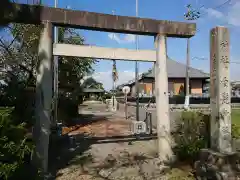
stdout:
[(36, 149), (34, 160), (43, 173), (48, 171), (48, 147), (51, 126), (51, 109), (53, 95), (52, 67), (52, 24), (43, 23), (38, 51), (37, 80), (36, 80), (36, 122), (34, 139)]

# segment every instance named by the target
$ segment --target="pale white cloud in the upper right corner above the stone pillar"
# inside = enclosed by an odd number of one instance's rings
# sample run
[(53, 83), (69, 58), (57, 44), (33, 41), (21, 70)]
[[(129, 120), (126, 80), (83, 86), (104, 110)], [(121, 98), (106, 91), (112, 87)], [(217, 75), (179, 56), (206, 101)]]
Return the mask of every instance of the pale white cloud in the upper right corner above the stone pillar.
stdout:
[(212, 8), (204, 8), (204, 11), (208, 14), (208, 17), (218, 19), (229, 25), (239, 27), (240, 26), (240, 2), (231, 4), (226, 13), (220, 12)]

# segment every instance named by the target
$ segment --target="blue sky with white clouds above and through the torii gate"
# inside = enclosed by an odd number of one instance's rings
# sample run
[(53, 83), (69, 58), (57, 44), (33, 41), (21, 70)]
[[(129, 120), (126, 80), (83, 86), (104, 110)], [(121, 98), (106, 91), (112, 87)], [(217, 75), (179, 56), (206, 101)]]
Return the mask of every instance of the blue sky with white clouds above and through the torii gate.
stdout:
[[(232, 0), (221, 8), (215, 9), (226, 0), (139, 0), (139, 16), (160, 20), (184, 21), (186, 4), (201, 8), (203, 16), (197, 23), (199, 31), (191, 38), (191, 66), (209, 72), (209, 32), (211, 28), (221, 25), (230, 29), (231, 37), (231, 78), (240, 79), (240, 51), (237, 42), (240, 40), (240, 1)], [(44, 4), (54, 5), (54, 0), (43, 0)], [(117, 15), (135, 16), (135, 0), (58, 0), (58, 7), (70, 7), (74, 10), (84, 10)], [(120, 47), (134, 49), (133, 35), (118, 34), (113, 38), (112, 34), (95, 31), (80, 31), (86, 43), (103, 47)], [(186, 39), (168, 38), (168, 55), (172, 59), (185, 63)], [(153, 49), (153, 37), (140, 36), (140, 49)], [(196, 59), (197, 57), (198, 59)], [(239, 64), (234, 63), (239, 62)], [(139, 63), (140, 72), (147, 71), (152, 63)], [(111, 88), (111, 61), (101, 61), (95, 65), (94, 77), (101, 81), (106, 89)], [(134, 62), (117, 61), (119, 72), (118, 84), (134, 78)], [(176, 69), (177, 70), (177, 69)]]

